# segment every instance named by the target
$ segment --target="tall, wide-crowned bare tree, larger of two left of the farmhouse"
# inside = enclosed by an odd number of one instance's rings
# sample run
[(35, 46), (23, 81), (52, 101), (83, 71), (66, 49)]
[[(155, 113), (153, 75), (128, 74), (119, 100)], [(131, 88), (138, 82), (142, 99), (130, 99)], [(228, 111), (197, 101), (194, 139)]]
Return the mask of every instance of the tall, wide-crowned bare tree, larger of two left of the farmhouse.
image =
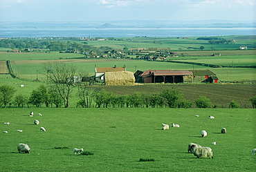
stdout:
[(62, 97), (64, 108), (68, 108), (69, 98), (76, 82), (75, 65), (55, 61), (53, 64), (45, 64), (43, 68), (46, 71), (48, 83)]

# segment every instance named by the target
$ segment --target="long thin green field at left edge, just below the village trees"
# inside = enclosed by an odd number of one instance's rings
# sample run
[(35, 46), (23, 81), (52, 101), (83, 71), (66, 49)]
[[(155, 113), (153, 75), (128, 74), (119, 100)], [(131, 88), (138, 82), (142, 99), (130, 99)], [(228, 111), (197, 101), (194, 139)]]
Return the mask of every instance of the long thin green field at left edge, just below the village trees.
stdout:
[(5, 52), (0, 53), (0, 60), (48, 60), (48, 59), (70, 59), (84, 57), (78, 53), (59, 53), (59, 52)]

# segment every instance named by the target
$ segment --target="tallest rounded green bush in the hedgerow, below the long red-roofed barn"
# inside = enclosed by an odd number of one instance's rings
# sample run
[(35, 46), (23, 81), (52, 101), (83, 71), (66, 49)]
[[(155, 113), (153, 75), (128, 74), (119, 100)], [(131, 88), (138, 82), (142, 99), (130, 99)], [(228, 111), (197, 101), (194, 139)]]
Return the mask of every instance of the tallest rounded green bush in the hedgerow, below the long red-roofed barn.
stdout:
[(183, 93), (174, 88), (163, 90), (161, 96), (166, 99), (166, 103), (170, 108), (179, 107), (179, 101), (183, 99)]

